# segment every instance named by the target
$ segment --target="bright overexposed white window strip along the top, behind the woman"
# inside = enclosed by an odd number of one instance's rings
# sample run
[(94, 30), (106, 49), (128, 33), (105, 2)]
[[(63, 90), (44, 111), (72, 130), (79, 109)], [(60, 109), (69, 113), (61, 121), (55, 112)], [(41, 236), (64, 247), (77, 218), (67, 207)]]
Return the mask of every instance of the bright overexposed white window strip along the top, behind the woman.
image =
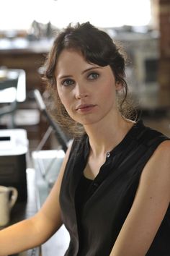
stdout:
[(32, 21), (66, 27), (86, 22), (97, 27), (148, 25), (150, 0), (4, 0), (1, 1), (0, 30), (27, 30)]

